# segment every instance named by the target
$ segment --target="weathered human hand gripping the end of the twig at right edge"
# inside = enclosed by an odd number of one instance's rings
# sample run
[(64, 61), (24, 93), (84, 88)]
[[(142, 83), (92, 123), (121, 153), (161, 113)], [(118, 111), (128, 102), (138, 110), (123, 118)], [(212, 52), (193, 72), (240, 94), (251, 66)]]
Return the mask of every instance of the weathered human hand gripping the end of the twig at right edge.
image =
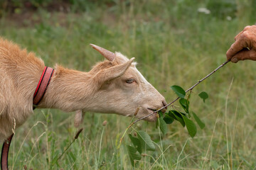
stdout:
[(256, 26), (246, 26), (238, 35), (235, 42), (228, 49), (228, 61), (256, 60)]

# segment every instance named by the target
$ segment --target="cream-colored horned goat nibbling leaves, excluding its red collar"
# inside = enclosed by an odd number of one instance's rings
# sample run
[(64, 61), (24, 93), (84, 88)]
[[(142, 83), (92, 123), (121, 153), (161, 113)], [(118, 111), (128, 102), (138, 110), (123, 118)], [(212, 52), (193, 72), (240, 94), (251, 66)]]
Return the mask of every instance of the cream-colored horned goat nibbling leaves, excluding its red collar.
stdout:
[[(82, 113), (117, 113), (137, 118), (165, 106), (164, 97), (149, 84), (132, 62), (119, 52), (92, 45), (107, 60), (90, 72), (55, 67), (55, 72), (38, 108), (76, 111), (75, 125)], [(5, 140), (33, 113), (33, 94), (45, 65), (31, 52), (0, 39), (0, 140)], [(147, 118), (156, 120), (156, 115)]]

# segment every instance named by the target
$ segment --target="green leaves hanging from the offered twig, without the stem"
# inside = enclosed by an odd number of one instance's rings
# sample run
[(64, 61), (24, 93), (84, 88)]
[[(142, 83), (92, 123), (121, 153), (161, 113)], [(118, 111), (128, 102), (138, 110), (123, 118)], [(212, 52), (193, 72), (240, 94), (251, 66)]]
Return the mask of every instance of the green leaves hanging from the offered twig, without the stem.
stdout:
[[(194, 113), (193, 111), (190, 111), (189, 109), (190, 94), (188, 94), (187, 98), (185, 98), (186, 93), (184, 93), (185, 91), (181, 88), (181, 86), (171, 86), (171, 89), (174, 90), (174, 92), (181, 97), (179, 99), (179, 104), (181, 105), (181, 108), (183, 108), (184, 112), (177, 111), (176, 109), (168, 111), (166, 113), (162, 113), (161, 111), (159, 111), (159, 118), (158, 118), (158, 121), (156, 121), (156, 128), (159, 127), (163, 135), (166, 135), (168, 131), (168, 125), (170, 125), (171, 123), (174, 123), (174, 121), (176, 120), (179, 123), (181, 123), (183, 127), (186, 126), (188, 130), (188, 135), (190, 135), (191, 137), (194, 137), (197, 132), (196, 123), (200, 128), (204, 128), (205, 124), (202, 122), (200, 118), (198, 118), (196, 113)], [(204, 94), (208, 96), (206, 92), (204, 92)], [(203, 99), (203, 102), (205, 102), (206, 98), (203, 97), (202, 99)], [(191, 113), (193, 115), (194, 120), (196, 120), (196, 123), (194, 123), (193, 120), (191, 119), (192, 118)], [(150, 136), (146, 132), (141, 130), (135, 134), (136, 136), (132, 136), (132, 134), (129, 134), (129, 139), (131, 140), (133, 146), (127, 145), (129, 158), (133, 166), (136, 165), (137, 161), (142, 159), (142, 152), (146, 150), (147, 151), (155, 150), (154, 142), (151, 140)]]

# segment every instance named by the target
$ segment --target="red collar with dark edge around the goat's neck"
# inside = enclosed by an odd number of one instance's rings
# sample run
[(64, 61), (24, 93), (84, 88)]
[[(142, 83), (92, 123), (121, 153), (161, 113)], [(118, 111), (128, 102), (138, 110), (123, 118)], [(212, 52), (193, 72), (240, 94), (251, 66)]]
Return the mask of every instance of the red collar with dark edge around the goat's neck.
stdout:
[(48, 84), (50, 83), (50, 78), (53, 76), (53, 72), (54, 69), (50, 67), (45, 67), (43, 69), (43, 73), (33, 96), (33, 109), (38, 106), (38, 103), (40, 103), (40, 101), (42, 100), (43, 95), (46, 94), (46, 89), (48, 87)]

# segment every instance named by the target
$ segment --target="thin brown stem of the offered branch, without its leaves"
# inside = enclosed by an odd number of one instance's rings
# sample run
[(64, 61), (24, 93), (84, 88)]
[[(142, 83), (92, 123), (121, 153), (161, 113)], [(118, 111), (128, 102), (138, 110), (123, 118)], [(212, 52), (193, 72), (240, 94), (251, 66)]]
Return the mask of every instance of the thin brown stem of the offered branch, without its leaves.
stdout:
[[(220, 69), (221, 67), (223, 67), (223, 66), (224, 66), (225, 64), (227, 64), (228, 62), (230, 62), (230, 61), (226, 61), (226, 62), (224, 62), (223, 64), (221, 64), (219, 67), (217, 67), (216, 69), (214, 69), (213, 72), (210, 72), (210, 74), (208, 74), (206, 77), (203, 77), (203, 79), (199, 80), (196, 84), (194, 84), (193, 86), (191, 86), (191, 88), (187, 89), (185, 92), (192, 91), (198, 84), (200, 84), (202, 81), (204, 81), (205, 79), (207, 79), (208, 77), (210, 77), (213, 73), (217, 72), (218, 69)], [(179, 97), (178, 97), (178, 98), (179, 98)], [(171, 103), (167, 104), (166, 106), (164, 106), (164, 107), (162, 107), (162, 108), (159, 108), (159, 110), (154, 111), (153, 113), (151, 113), (151, 114), (149, 114), (149, 115), (145, 115), (144, 117), (135, 120), (133, 123), (131, 123), (131, 124), (128, 126), (128, 128), (130, 128), (132, 125), (134, 125), (135, 123), (139, 122), (140, 120), (143, 120), (144, 118), (148, 118), (149, 116), (154, 115), (155, 113), (161, 111), (162, 109), (166, 108), (167, 106), (170, 106), (172, 103), (174, 103), (175, 101), (177, 101), (178, 98), (176, 98), (174, 101), (172, 101)], [(127, 129), (128, 129), (128, 128), (127, 128)]]

